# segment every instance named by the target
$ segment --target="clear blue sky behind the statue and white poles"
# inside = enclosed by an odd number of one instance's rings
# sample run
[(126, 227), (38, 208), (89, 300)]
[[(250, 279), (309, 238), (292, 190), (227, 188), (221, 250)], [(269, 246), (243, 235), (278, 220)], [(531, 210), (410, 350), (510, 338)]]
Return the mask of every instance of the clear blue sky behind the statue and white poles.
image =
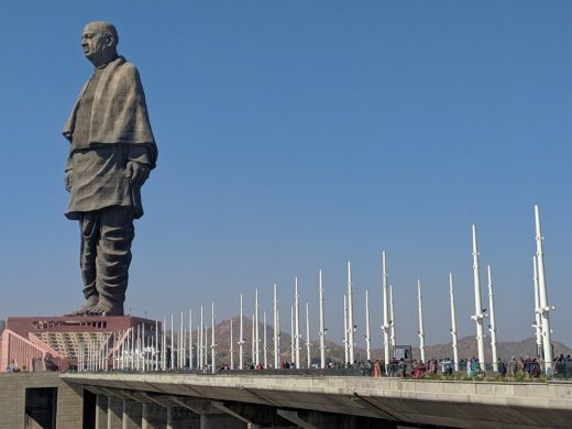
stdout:
[[(64, 218), (62, 127), (91, 65), (79, 36), (113, 22), (138, 65), (160, 147), (136, 222), (127, 308), (155, 318), (254, 288), (289, 330), (294, 277), (317, 326), (342, 332), (352, 261), (359, 345), (370, 290), (381, 344), (381, 251), (399, 343), (474, 336), (471, 223), (499, 340), (532, 334), (534, 205), (542, 210), (553, 338), (572, 344), (572, 2), (7, 1), (0, 68), (0, 316), (81, 300)], [(486, 302), (483, 287), (483, 300)], [(485, 305), (488, 307), (488, 305)], [(304, 328), (302, 328), (304, 329)]]

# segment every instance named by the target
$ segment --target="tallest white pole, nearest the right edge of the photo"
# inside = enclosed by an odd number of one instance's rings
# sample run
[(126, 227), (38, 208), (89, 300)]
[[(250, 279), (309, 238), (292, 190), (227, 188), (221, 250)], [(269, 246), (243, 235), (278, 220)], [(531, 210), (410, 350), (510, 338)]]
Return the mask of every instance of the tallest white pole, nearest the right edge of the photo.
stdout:
[(547, 375), (552, 375), (552, 341), (550, 331), (550, 310), (547, 297), (547, 282), (544, 273), (544, 251), (542, 249), (542, 230), (540, 228), (540, 209), (535, 206), (535, 223), (536, 223), (536, 242), (537, 242), (537, 265), (538, 265), (538, 296), (540, 307), (537, 312), (540, 314), (542, 322), (542, 349), (544, 351), (544, 369)]

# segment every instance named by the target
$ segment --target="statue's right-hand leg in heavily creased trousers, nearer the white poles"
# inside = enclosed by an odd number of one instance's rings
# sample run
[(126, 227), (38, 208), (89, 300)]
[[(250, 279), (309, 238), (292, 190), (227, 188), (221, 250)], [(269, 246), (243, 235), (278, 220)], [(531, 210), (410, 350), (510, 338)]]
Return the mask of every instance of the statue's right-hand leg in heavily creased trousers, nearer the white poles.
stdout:
[(113, 206), (100, 212), (100, 238), (96, 263), (99, 301), (89, 311), (91, 315), (123, 315), (133, 237), (131, 208)]

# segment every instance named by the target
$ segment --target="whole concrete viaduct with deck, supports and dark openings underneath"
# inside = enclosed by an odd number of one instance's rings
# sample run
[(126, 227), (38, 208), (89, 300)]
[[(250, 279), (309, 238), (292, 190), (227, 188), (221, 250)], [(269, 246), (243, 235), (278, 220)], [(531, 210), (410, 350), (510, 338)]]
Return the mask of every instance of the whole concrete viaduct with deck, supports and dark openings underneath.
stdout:
[[(53, 418), (53, 427), (57, 428), (572, 427), (571, 383), (416, 381), (264, 372), (66, 373), (40, 378), (40, 374), (10, 374), (1, 375), (0, 381), (18, 380), (19, 375), (28, 377), (20, 387), (45, 387), (51, 383), (59, 387), (57, 419)], [(15, 384), (2, 383), (2, 393), (12, 395), (15, 404), (14, 396), (22, 395), (10, 393), (7, 386)], [(24, 396), (28, 400), (28, 388)], [(33, 414), (29, 408), (26, 404), (26, 413)], [(4, 425), (19, 421), (10, 420), (19, 418), (14, 409), (11, 413), (15, 417), (6, 410), (0, 413), (4, 414)], [(26, 425), (6, 427), (43, 427), (28, 425), (29, 421), (28, 418)]]

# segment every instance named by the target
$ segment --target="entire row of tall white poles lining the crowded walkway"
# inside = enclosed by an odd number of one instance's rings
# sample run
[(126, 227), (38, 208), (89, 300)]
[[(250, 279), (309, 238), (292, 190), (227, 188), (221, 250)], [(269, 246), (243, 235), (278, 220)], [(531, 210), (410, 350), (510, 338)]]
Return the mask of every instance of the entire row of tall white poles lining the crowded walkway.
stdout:
[[(537, 339), (537, 353), (543, 356), (544, 369), (547, 373), (552, 372), (552, 349), (551, 349), (551, 330), (550, 330), (550, 310), (553, 307), (548, 305), (547, 286), (544, 275), (544, 258), (542, 248), (542, 233), (540, 228), (540, 211), (535, 206), (535, 227), (536, 227), (536, 255), (534, 256), (534, 293), (535, 293), (535, 323)], [(474, 279), (474, 302), (475, 314), (471, 319), (476, 324), (476, 343), (479, 353), (479, 363), (484, 370), (484, 319), (490, 319), (490, 334), (492, 348), (493, 370), (497, 371), (497, 351), (496, 351), (496, 320), (494, 312), (493, 299), (493, 279), (491, 266), (487, 266), (488, 282), (488, 314), (483, 309), (481, 296), (481, 277), (479, 265), (479, 246), (476, 238), (476, 227), (472, 226), (472, 256), (473, 256), (473, 279)], [(326, 367), (326, 316), (324, 316), (324, 287), (322, 280), (322, 272), (318, 274), (319, 288), (319, 352), (320, 367)], [(254, 315), (252, 315), (252, 341), (251, 341), (251, 363), (255, 367), (268, 367), (268, 344), (267, 344), (267, 323), (266, 312), (263, 312), (263, 344), (261, 353), (261, 334), (260, 334), (260, 300), (258, 289), (255, 289)], [(382, 252), (382, 295), (383, 295), (383, 350), (384, 360), (389, 362), (394, 356), (392, 351), (396, 345), (395, 336), (395, 314), (392, 285), (388, 284), (387, 257), (385, 251)], [(458, 350), (458, 330), (457, 315), (453, 292), (453, 275), (449, 274), (449, 296), (451, 307), (451, 336), (453, 349), (454, 370), (459, 371), (459, 350)], [(418, 298), (418, 321), (419, 321), (419, 350), (420, 359), (425, 362), (425, 329), (422, 315), (422, 296), (421, 282), (417, 283)], [(345, 362), (355, 362), (355, 331), (354, 321), (354, 293), (352, 283), (352, 267), (348, 262), (348, 290), (344, 294), (344, 359)], [(112, 333), (107, 340), (94, 340), (80, 345), (78, 353), (78, 369), (80, 371), (99, 371), (99, 370), (135, 370), (135, 371), (166, 371), (177, 369), (189, 370), (207, 370), (215, 372), (217, 370), (217, 343), (216, 332), (215, 302), (211, 305), (210, 320), (210, 345), (208, 344), (208, 323), (205, 319), (204, 307), (200, 306), (199, 326), (196, 329), (196, 342), (193, 339), (193, 310), (188, 314), (188, 330), (185, 326), (184, 314), (180, 314), (180, 326), (178, 330), (174, 324), (174, 316), (170, 315), (170, 336), (167, 334), (167, 320), (164, 318), (163, 323), (155, 321), (154, 327), (145, 330), (145, 323), (133, 327), (121, 333)], [(244, 336), (244, 306), (243, 295), (240, 295), (240, 318), (239, 318), (239, 341), (233, 339), (233, 319), (230, 319), (230, 363), (229, 369), (234, 370), (234, 345), (239, 345), (239, 363), (238, 369), (245, 367), (244, 346), (246, 344)], [(275, 369), (282, 366), (280, 351), (280, 328), (279, 328), (279, 308), (277, 299), (277, 285), (274, 284), (273, 289), (273, 365)], [(311, 342), (310, 342), (310, 315), (309, 305), (306, 302), (306, 365), (311, 365)], [(369, 292), (365, 290), (365, 345), (366, 359), (371, 360), (371, 331), (370, 331), (370, 300)], [(290, 307), (290, 362), (298, 367), (300, 365), (300, 302), (298, 290), (298, 278), (295, 278), (294, 285), (294, 305)], [(209, 362), (210, 349), (210, 362)], [(194, 355), (194, 352), (196, 355)], [(262, 355), (261, 355), (262, 354)]]

